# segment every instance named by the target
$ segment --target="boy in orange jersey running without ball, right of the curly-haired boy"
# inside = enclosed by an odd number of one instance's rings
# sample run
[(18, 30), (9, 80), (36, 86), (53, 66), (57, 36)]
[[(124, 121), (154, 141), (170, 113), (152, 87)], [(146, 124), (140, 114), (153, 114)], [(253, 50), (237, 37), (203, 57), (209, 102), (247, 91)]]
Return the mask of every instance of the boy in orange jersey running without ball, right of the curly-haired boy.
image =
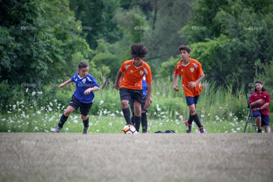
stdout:
[(189, 119), (185, 121), (187, 133), (191, 133), (191, 124), (193, 120), (199, 127), (201, 133), (207, 133), (206, 129), (201, 125), (196, 113), (198, 98), (202, 91), (200, 81), (205, 77), (202, 65), (197, 60), (190, 58), (191, 48), (188, 46), (180, 46), (178, 47), (178, 50), (182, 60), (179, 61), (175, 67), (173, 88), (175, 91), (179, 91), (179, 86), (176, 81), (178, 75), (181, 74), (187, 106), (189, 106), (190, 109)]

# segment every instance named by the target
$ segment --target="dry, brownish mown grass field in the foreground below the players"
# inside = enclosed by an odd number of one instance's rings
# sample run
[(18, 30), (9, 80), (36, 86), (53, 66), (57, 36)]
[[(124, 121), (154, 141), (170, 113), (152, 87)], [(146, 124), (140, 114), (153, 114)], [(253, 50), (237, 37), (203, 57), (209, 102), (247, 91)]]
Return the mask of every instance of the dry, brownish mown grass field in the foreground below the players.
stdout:
[(272, 181), (271, 134), (1, 133), (0, 181)]

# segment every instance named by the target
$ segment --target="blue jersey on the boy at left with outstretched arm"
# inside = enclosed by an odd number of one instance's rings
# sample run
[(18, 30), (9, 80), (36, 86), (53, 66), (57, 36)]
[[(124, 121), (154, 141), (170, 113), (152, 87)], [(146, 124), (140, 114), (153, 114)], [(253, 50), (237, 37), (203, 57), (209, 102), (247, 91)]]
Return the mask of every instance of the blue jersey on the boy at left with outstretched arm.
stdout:
[(74, 92), (74, 96), (82, 103), (90, 103), (94, 101), (95, 95), (94, 91), (91, 91), (90, 94), (85, 95), (84, 91), (88, 88), (92, 87), (98, 87), (100, 89), (100, 86), (98, 86), (95, 78), (88, 74), (86, 77), (80, 77), (78, 73), (75, 73), (74, 76), (72, 76), (71, 80), (75, 82), (76, 84), (76, 90)]

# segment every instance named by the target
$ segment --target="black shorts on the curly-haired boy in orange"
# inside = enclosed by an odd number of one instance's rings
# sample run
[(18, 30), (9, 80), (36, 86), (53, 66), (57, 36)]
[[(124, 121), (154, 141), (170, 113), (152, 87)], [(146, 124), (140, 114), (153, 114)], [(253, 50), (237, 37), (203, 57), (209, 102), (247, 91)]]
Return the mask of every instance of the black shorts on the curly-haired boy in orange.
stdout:
[(134, 100), (136, 102), (142, 103), (142, 90), (135, 90), (129, 88), (119, 88), (120, 101), (122, 100)]

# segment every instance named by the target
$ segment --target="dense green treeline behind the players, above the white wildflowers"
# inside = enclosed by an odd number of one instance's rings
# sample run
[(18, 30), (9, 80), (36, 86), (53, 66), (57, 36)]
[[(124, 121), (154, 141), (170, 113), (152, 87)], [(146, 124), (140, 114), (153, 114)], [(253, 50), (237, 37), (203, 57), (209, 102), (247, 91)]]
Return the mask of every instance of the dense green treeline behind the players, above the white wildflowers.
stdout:
[[(101, 95), (113, 87), (121, 63), (131, 59), (131, 44), (137, 42), (148, 48), (144, 60), (154, 83), (164, 83), (154, 87), (155, 94), (171, 92), (164, 86), (171, 86), (180, 60), (177, 47), (182, 44), (192, 48), (191, 57), (200, 61), (205, 80), (216, 90), (224, 87), (236, 95), (236, 89), (243, 89), (240, 94), (245, 94), (253, 90), (249, 83), (256, 79), (270, 90), (272, 2), (3, 0), (0, 109), (14, 100), (32, 101), (34, 96), (43, 105), (56, 98), (66, 104), (74, 86), (61, 92), (57, 86), (76, 72), (79, 61), (89, 63)], [(43, 93), (33, 96), (34, 91)]]

